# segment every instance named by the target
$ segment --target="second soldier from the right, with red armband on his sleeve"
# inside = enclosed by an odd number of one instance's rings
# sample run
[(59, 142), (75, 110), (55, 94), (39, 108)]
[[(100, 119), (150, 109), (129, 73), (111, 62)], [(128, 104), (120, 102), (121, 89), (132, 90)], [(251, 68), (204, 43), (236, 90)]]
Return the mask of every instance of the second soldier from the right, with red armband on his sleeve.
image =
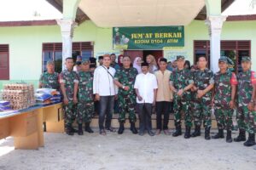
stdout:
[(227, 130), (226, 142), (231, 143), (232, 115), (235, 107), (236, 75), (228, 69), (228, 59), (218, 59), (219, 71), (214, 74), (214, 113), (218, 133), (212, 139), (223, 139)]

